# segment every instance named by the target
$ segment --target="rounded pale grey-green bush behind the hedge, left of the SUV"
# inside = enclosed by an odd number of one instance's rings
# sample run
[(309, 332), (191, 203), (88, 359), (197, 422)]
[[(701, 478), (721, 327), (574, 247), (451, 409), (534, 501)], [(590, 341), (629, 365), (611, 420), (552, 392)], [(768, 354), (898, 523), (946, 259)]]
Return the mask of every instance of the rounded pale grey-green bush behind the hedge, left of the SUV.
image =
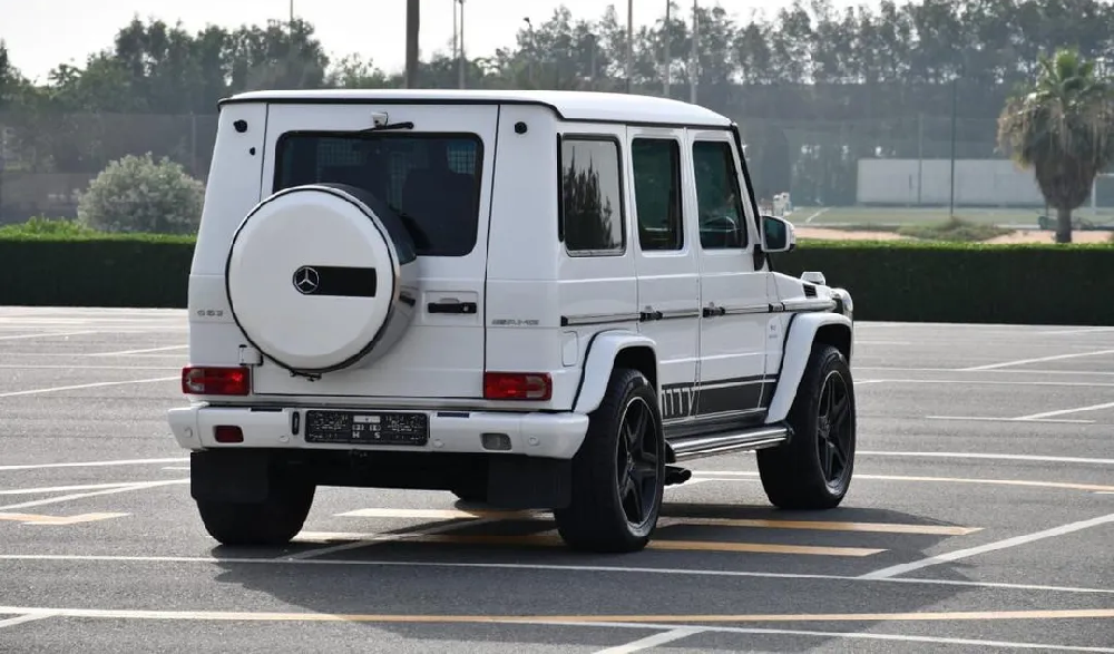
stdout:
[(127, 155), (100, 172), (81, 194), (77, 215), (101, 232), (195, 234), (205, 185), (168, 158)]

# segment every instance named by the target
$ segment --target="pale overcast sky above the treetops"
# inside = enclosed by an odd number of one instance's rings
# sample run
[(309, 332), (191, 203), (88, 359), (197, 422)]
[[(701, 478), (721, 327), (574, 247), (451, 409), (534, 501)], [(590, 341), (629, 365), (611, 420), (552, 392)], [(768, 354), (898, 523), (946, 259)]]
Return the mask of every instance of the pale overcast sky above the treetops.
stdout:
[[(452, 49), (455, 0), (421, 0), (422, 57)], [(772, 16), (791, 0), (698, 0), (702, 7), (723, 7), (736, 19), (753, 10)], [(675, 0), (692, 16), (690, 0)], [(574, 17), (597, 19), (614, 3), (620, 22), (624, 0), (564, 0)], [(849, 0), (836, 0), (843, 7)], [(874, 2), (868, 2), (873, 6)], [(294, 0), (294, 13), (316, 28), (317, 37), (334, 60), (350, 53), (371, 59), (389, 71), (405, 61), (405, 0)], [(560, 3), (555, 0), (466, 0), (465, 46), (470, 57), (483, 57), (515, 42), (515, 33), (529, 17), (545, 22)], [(665, 13), (665, 0), (635, 0), (636, 26)], [(12, 65), (28, 78), (45, 82), (55, 66), (84, 66), (86, 57), (110, 47), (117, 30), (134, 16), (180, 21), (190, 32), (216, 23), (238, 27), (286, 20), (290, 0), (0, 0), (0, 40), (8, 45)]]

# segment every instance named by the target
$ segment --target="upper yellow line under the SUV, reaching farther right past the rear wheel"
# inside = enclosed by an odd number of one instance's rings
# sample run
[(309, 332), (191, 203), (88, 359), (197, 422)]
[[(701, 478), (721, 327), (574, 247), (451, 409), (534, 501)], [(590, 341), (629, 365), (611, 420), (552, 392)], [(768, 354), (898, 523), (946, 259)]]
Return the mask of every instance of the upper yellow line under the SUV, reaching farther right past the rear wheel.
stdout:
[[(463, 509), (395, 509), (368, 508), (336, 514), (342, 518), (419, 518), (432, 520), (460, 520), (472, 518), (496, 519), (548, 519), (548, 511), (500, 511)], [(911, 525), (896, 523), (844, 523), (821, 520), (760, 520), (740, 518), (690, 518), (665, 516), (661, 525), (697, 525), (706, 527), (755, 527), (769, 529), (812, 529), (822, 531), (870, 531), (883, 534), (928, 534), (937, 536), (966, 536), (981, 531), (981, 527), (952, 527), (948, 525)]]

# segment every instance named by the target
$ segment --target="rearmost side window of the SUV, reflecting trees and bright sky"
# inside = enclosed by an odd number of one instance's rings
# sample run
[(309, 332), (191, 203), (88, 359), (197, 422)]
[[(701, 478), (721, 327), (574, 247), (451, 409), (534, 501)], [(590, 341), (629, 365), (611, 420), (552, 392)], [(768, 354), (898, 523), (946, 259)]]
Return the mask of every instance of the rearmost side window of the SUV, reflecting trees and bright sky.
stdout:
[(590, 137), (560, 141), (559, 237), (573, 255), (622, 254), (619, 144)]

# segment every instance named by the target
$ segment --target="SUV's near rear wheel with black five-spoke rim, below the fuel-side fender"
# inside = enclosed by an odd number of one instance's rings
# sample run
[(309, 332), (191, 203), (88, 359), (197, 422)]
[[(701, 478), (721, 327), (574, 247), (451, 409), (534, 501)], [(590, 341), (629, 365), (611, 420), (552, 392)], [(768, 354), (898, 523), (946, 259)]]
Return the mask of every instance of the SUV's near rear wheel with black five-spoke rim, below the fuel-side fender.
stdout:
[(615, 370), (573, 458), (571, 501), (554, 511), (557, 531), (576, 550), (639, 550), (657, 526), (664, 489), (657, 393), (637, 370)]

